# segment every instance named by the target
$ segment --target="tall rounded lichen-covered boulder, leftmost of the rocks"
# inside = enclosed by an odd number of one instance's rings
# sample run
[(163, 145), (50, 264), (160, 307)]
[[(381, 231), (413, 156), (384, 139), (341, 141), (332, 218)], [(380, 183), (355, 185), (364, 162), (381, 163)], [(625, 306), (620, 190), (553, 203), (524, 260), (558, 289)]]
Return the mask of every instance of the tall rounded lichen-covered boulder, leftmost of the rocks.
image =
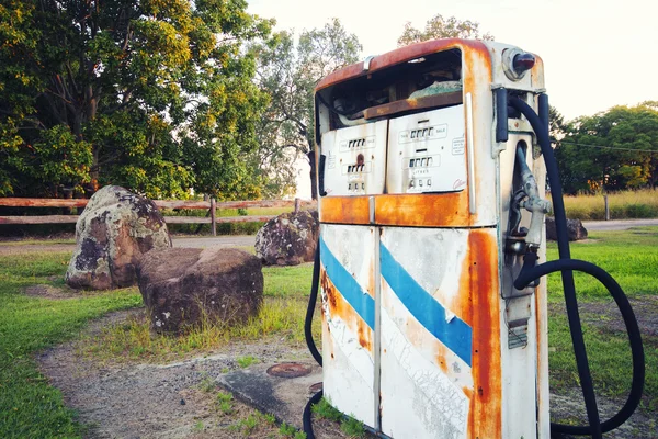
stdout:
[(134, 285), (143, 254), (171, 247), (167, 224), (152, 201), (117, 185), (93, 194), (76, 225), (76, 251), (66, 283), (109, 290)]

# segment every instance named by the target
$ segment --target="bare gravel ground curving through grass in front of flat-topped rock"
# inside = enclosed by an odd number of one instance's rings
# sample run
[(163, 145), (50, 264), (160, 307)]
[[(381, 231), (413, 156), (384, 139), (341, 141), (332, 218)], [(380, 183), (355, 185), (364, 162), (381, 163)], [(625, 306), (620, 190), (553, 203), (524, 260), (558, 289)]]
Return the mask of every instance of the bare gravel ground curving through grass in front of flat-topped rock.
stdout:
[[(93, 336), (138, 313), (143, 311), (112, 313), (93, 322), (87, 333)], [(238, 369), (235, 359), (245, 356), (261, 362), (286, 359), (313, 362), (306, 349), (269, 342), (230, 345), (219, 353), (168, 364), (107, 364), (81, 357), (80, 342), (49, 349), (37, 361), (52, 385), (61, 390), (65, 403), (77, 409), (79, 419), (90, 426), (90, 438), (203, 437), (195, 426), (200, 421), (214, 425), (216, 414), (212, 398), (204, 397), (198, 390), (202, 381), (215, 381), (220, 374)], [(222, 425), (214, 427), (209, 437), (236, 437), (235, 431), (223, 429)]]

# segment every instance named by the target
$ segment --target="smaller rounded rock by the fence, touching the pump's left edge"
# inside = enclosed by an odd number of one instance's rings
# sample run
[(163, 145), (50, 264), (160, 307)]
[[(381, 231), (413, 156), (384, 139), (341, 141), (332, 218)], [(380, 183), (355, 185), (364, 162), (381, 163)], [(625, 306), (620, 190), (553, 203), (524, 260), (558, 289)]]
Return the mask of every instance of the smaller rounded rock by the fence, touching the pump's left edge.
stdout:
[(318, 241), (317, 211), (284, 213), (256, 235), (256, 256), (268, 266), (296, 266), (314, 260)]

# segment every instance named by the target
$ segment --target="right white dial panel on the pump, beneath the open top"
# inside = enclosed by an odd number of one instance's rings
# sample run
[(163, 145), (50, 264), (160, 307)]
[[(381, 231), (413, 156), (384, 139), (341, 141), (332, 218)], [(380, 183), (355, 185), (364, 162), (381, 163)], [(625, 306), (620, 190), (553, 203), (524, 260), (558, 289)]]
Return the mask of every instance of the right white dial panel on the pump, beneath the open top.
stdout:
[(466, 188), (464, 105), (389, 121), (388, 193)]

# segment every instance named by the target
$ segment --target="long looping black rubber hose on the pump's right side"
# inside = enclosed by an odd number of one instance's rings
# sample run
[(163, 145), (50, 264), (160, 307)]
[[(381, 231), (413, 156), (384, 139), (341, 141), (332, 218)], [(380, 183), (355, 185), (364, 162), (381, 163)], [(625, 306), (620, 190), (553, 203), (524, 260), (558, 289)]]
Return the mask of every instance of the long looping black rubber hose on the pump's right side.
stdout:
[[(547, 100), (544, 98), (542, 103), (545, 105)], [(637, 405), (642, 398), (645, 363), (639, 327), (631, 304), (628, 303), (628, 300), (616, 281), (614, 281), (614, 279), (601, 268), (589, 262), (572, 260), (570, 258), (567, 217), (563, 200), (561, 183), (559, 180), (559, 172), (557, 170), (557, 162), (553, 154), (553, 148), (551, 147), (548, 127), (546, 124), (547, 121), (543, 121), (540, 116), (537, 116), (530, 105), (518, 98), (511, 99), (510, 105), (519, 110), (529, 120), (542, 148), (542, 154), (546, 164), (546, 173), (551, 183), (551, 195), (553, 200), (553, 211), (555, 215), (555, 228), (557, 233), (559, 252), (559, 260), (546, 262), (536, 267), (536, 255), (529, 252), (525, 257), (521, 273), (514, 282), (514, 285), (525, 286), (530, 282), (547, 273), (556, 271), (561, 272), (571, 341), (574, 344), (578, 375), (580, 378), (582, 395), (590, 424), (588, 427), (567, 426), (552, 423), (551, 428), (554, 432), (568, 435), (591, 435), (593, 438), (601, 438), (603, 431), (610, 431), (622, 425), (633, 414), (635, 408), (637, 408)], [(628, 333), (633, 357), (633, 382), (631, 386), (631, 393), (628, 394), (628, 399), (622, 409), (615, 416), (602, 424), (599, 418), (593, 382), (589, 370), (585, 340), (582, 338), (582, 327), (580, 325), (578, 301), (576, 299), (576, 288), (574, 284), (574, 273), (571, 270), (589, 273), (599, 279), (599, 281), (601, 281), (609, 289), (617, 306), (620, 307), (620, 311), (622, 312), (622, 317), (624, 318), (626, 330)]]

